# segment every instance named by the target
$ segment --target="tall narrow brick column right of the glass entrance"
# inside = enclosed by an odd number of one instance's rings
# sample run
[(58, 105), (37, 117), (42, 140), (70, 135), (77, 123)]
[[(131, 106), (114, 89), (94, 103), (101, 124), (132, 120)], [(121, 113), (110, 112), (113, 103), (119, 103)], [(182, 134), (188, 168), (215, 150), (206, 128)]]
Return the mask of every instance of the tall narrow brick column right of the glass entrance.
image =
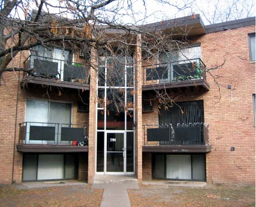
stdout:
[(137, 43), (135, 47), (135, 175), (138, 181), (142, 180), (142, 68), (141, 68), (141, 35), (137, 36)]

